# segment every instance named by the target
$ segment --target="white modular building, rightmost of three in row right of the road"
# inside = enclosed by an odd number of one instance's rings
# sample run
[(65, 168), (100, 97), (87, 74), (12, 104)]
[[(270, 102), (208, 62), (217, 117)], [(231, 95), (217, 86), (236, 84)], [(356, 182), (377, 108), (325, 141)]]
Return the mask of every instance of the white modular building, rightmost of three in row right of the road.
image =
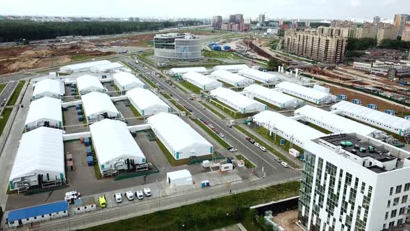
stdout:
[(299, 97), (314, 104), (331, 104), (331, 102), (334, 102), (336, 99), (334, 95), (330, 95), (329, 93), (323, 93), (319, 90), (300, 86), (299, 84), (290, 83), (288, 81), (277, 84), (275, 88), (283, 93)]

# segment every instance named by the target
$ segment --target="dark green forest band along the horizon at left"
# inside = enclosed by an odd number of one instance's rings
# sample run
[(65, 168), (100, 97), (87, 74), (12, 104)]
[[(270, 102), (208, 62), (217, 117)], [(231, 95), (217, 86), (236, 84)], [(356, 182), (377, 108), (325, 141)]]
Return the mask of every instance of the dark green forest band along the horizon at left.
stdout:
[(66, 35), (110, 35), (139, 31), (156, 31), (174, 26), (195, 26), (184, 22), (33, 22), (0, 20), (0, 42), (42, 40)]

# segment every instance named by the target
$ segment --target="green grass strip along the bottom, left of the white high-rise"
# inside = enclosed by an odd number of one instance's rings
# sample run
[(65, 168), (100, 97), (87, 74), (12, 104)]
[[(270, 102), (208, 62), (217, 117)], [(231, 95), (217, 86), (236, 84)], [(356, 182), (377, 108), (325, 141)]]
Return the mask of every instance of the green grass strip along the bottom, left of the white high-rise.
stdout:
[(249, 231), (258, 230), (258, 225), (253, 221), (256, 211), (249, 210), (249, 207), (298, 196), (299, 192), (300, 182), (288, 182), (265, 189), (136, 216), (85, 230), (214, 230), (235, 223), (243, 223)]

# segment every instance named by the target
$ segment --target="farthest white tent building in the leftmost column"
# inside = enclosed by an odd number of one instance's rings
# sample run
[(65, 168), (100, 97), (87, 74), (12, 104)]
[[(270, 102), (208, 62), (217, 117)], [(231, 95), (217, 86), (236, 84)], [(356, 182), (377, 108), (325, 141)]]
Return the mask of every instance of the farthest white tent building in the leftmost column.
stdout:
[(54, 79), (44, 79), (35, 83), (33, 99), (53, 97), (59, 99), (65, 94), (64, 82)]

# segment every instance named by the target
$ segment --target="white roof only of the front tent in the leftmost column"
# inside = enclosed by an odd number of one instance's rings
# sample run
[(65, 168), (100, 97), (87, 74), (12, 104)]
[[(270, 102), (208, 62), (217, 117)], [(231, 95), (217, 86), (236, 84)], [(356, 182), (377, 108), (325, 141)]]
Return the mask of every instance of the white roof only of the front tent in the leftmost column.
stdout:
[(20, 141), (10, 180), (38, 171), (65, 173), (63, 130), (39, 127)]

